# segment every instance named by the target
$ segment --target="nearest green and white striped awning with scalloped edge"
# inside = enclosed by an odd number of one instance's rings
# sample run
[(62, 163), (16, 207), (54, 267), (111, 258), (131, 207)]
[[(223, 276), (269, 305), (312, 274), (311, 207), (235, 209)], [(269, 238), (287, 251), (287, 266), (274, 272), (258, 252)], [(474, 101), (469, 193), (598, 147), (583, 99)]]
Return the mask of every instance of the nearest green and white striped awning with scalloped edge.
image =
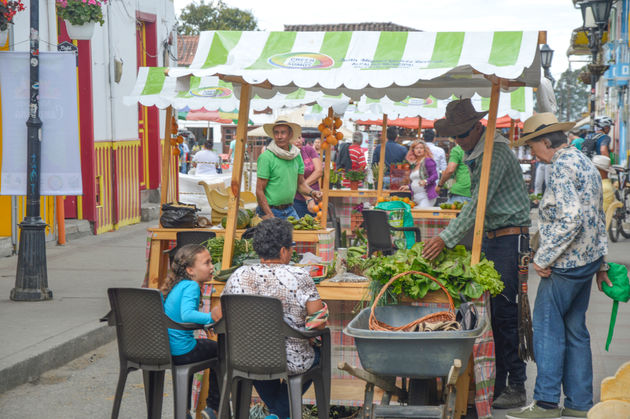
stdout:
[(191, 74), (260, 85), (254, 93), (261, 98), (297, 88), (355, 101), (364, 94), (394, 101), (488, 97), (486, 75), (538, 85), (538, 32), (208, 31), (191, 66), (169, 70)]

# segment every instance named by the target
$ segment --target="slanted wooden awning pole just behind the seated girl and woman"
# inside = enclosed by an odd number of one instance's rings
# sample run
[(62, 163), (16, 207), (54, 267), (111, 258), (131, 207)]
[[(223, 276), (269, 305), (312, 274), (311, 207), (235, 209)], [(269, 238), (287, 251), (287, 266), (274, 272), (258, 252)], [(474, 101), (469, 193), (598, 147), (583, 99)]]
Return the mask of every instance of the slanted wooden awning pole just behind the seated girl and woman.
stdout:
[(232, 182), (230, 183), (227, 224), (225, 225), (225, 241), (223, 242), (223, 259), (221, 269), (232, 266), (234, 254), (234, 238), (236, 237), (236, 218), (239, 199), (241, 197), (241, 178), (243, 177), (243, 161), (245, 144), (247, 143), (247, 121), (249, 120), (249, 102), (251, 85), (241, 85), (241, 98), (238, 108), (238, 125), (236, 126), (236, 146), (234, 147), (234, 163), (232, 164)]

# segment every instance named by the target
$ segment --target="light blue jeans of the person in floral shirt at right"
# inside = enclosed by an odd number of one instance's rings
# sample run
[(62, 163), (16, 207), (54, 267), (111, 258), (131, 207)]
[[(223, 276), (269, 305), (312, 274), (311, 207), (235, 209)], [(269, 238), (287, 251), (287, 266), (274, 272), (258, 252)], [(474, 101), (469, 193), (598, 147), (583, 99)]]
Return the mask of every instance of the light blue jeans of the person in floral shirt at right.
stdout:
[(601, 259), (571, 269), (551, 269), (541, 278), (534, 305), (534, 357), (538, 376), (534, 399), (560, 401), (564, 406), (589, 410), (593, 406), (591, 339), (586, 328), (586, 309), (593, 275)]

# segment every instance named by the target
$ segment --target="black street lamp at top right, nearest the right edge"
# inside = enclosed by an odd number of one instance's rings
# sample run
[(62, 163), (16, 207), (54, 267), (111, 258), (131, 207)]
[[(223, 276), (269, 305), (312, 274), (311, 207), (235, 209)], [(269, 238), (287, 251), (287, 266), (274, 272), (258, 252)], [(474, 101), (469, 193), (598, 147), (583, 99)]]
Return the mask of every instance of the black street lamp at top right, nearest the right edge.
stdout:
[(591, 132), (595, 131), (595, 89), (597, 81), (608, 68), (608, 66), (599, 63), (598, 53), (611, 7), (612, 0), (586, 0), (580, 3), (582, 23), (584, 28), (588, 30), (588, 46), (592, 55), (591, 64), (588, 66), (591, 73), (591, 106), (589, 109)]

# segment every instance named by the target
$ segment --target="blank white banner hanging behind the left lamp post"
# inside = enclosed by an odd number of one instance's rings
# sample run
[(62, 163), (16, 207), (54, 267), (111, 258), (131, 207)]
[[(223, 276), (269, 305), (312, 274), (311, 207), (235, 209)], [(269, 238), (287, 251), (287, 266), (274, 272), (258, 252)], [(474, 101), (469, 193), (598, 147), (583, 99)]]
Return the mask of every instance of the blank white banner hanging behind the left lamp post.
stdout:
[[(26, 195), (29, 71), (28, 52), (2, 53), (0, 195)], [(41, 52), (39, 88), (39, 117), (42, 120), (40, 195), (83, 195), (75, 55)]]

